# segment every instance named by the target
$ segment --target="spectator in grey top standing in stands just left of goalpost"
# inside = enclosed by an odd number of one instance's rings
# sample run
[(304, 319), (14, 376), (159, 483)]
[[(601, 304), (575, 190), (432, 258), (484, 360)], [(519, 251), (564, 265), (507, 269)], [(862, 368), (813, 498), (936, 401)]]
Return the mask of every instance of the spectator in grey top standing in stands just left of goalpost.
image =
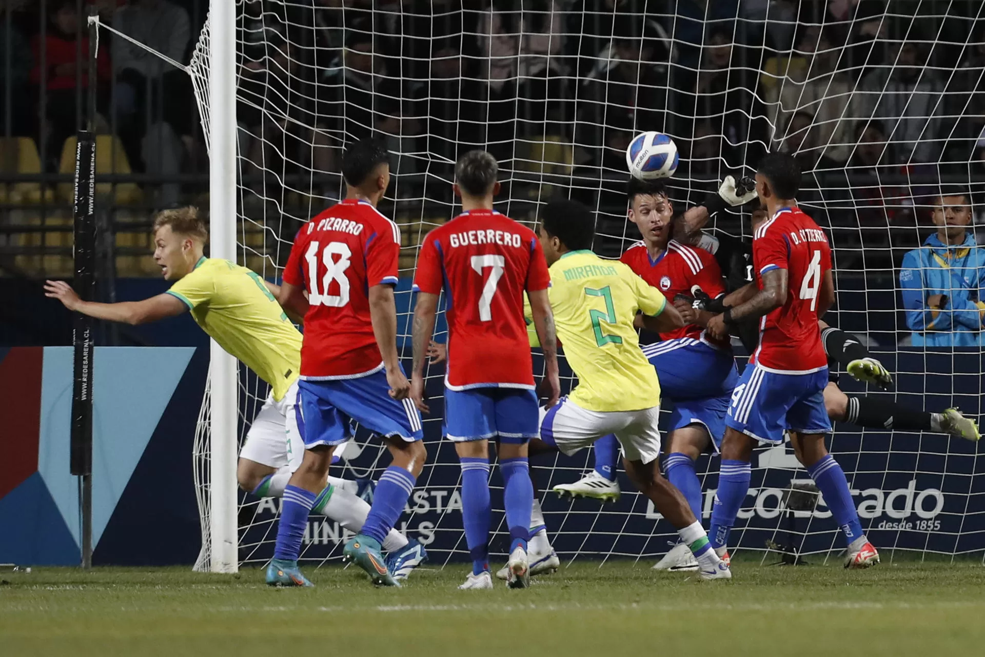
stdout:
[[(176, 62), (186, 60), (188, 13), (168, 0), (134, 0), (116, 10), (113, 27)], [(185, 149), (193, 145), (188, 76), (131, 41), (112, 43), (118, 130), (131, 164), (155, 175), (180, 173)], [(164, 183), (157, 205), (178, 205), (180, 191), (179, 184)]]

